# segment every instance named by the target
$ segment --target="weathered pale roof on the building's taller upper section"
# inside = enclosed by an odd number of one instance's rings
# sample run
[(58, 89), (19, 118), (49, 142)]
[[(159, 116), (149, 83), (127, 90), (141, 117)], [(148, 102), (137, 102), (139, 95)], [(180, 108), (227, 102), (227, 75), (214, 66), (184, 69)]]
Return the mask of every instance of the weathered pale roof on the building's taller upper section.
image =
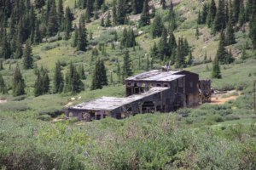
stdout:
[(139, 74), (134, 77), (127, 78), (126, 80), (132, 80), (132, 81), (172, 81), (180, 77), (184, 77), (185, 75), (174, 75), (180, 71), (147, 71), (143, 72), (142, 74)]

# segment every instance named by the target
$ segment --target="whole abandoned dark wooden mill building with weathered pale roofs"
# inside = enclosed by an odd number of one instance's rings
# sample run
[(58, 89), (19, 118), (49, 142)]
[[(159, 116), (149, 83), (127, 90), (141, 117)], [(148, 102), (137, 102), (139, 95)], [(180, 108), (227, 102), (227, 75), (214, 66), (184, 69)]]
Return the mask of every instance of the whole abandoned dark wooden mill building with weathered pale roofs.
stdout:
[(125, 79), (125, 98), (102, 97), (67, 108), (79, 121), (170, 112), (211, 102), (211, 80), (189, 71), (154, 70)]

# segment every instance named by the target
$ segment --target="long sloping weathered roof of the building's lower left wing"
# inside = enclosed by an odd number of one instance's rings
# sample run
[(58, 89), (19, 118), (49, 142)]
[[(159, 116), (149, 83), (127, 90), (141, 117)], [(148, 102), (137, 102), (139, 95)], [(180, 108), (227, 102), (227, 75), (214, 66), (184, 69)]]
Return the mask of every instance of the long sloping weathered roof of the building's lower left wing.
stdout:
[(145, 92), (143, 94), (133, 94), (126, 98), (113, 98), (113, 97), (103, 96), (102, 98), (93, 99), (93, 100), (81, 103), (79, 105), (73, 105), (69, 108), (76, 109), (76, 110), (87, 110), (87, 111), (112, 111), (123, 105), (128, 105), (134, 101), (143, 99), (152, 94), (160, 93), (166, 89), (168, 88), (154, 87), (154, 88), (151, 88), (148, 92)]

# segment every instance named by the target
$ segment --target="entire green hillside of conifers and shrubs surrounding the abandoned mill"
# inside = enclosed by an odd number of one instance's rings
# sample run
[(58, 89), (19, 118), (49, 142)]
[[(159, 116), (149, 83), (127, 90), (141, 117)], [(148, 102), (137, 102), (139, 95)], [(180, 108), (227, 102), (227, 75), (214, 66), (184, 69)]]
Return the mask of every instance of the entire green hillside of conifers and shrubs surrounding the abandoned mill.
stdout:
[[(168, 65), (211, 103), (67, 119)], [(255, 86), (256, 0), (0, 0), (1, 170), (253, 170)]]

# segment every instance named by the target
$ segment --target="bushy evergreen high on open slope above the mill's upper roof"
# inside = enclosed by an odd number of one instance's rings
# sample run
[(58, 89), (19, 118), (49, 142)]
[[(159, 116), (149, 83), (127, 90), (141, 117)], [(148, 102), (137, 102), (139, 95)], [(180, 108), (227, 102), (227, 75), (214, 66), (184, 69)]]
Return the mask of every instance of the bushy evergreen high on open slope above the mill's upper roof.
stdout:
[(164, 24), (160, 18), (160, 15), (157, 14), (155, 17), (154, 17), (154, 20), (153, 20), (153, 23), (151, 25), (151, 35), (152, 37), (160, 37), (161, 36), (161, 33), (162, 33), (162, 30), (164, 28)]

